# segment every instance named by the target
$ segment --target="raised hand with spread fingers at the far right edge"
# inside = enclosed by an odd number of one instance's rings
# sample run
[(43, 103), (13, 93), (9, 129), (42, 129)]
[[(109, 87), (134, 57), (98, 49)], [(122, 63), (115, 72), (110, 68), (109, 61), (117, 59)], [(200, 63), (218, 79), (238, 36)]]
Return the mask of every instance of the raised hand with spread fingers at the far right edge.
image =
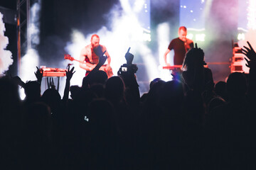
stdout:
[(249, 45), (250, 48), (243, 46), (242, 48), (242, 54), (244, 54), (245, 60), (247, 62), (247, 64), (245, 64), (247, 67), (251, 68), (256, 67), (256, 52), (255, 50), (253, 50), (252, 45), (250, 45), (250, 42), (247, 41), (247, 44)]

